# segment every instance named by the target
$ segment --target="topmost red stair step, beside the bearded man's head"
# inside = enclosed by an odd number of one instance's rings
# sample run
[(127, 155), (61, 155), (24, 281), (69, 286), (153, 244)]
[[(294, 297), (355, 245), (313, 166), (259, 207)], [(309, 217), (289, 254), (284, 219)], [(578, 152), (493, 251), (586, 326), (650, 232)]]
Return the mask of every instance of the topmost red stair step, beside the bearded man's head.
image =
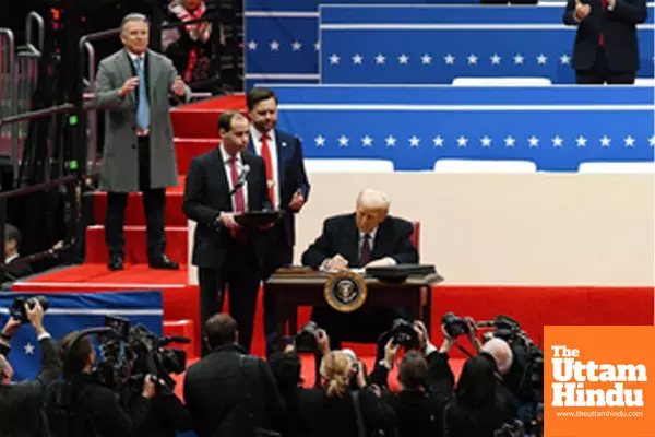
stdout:
[(218, 117), (226, 110), (246, 113), (246, 96), (235, 94), (176, 108), (170, 111), (172, 131), (182, 138), (217, 138)]

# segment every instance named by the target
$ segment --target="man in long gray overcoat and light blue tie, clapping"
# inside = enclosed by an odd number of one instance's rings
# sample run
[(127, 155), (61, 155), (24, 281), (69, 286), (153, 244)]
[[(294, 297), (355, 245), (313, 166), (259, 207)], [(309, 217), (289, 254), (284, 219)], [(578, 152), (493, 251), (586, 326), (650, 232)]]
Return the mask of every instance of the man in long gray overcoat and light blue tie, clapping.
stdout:
[(171, 99), (188, 102), (191, 93), (172, 62), (147, 48), (145, 15), (127, 15), (120, 39), (124, 48), (98, 67), (95, 99), (107, 117), (99, 188), (107, 191), (108, 268), (123, 268), (128, 193), (141, 192), (150, 267), (177, 270), (165, 253), (166, 188), (178, 185), (169, 109)]

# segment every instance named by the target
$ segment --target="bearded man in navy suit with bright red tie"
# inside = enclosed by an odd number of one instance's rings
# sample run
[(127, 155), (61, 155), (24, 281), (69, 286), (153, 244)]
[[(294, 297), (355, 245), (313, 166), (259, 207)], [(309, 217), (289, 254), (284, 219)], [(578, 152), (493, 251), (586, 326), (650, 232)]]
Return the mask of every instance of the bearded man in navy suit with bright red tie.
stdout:
[[(297, 137), (275, 129), (277, 96), (267, 88), (255, 87), (248, 93), (248, 110), (252, 118), (249, 150), (266, 163), (266, 184), (273, 209), (284, 212), (283, 220), (269, 233), (270, 241), (264, 262), (263, 280), (283, 265), (294, 262), (297, 214), (309, 197), (302, 144)], [(275, 295), (264, 286), (264, 333), (266, 355), (277, 344), (277, 311)]]

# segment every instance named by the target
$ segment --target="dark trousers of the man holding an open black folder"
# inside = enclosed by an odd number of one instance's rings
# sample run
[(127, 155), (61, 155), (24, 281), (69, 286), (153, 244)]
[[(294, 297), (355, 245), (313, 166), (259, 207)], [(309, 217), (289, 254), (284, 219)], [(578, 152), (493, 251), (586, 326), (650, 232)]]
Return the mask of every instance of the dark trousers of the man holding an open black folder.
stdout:
[[(223, 310), (225, 288), (229, 287), (229, 314), (237, 322), (239, 344), (248, 352), (252, 343), (252, 326), (261, 272), (252, 244), (231, 240), (230, 250), (221, 269), (198, 269), (200, 283), (201, 338), (207, 319)], [(209, 353), (202, 342), (202, 355)]]

